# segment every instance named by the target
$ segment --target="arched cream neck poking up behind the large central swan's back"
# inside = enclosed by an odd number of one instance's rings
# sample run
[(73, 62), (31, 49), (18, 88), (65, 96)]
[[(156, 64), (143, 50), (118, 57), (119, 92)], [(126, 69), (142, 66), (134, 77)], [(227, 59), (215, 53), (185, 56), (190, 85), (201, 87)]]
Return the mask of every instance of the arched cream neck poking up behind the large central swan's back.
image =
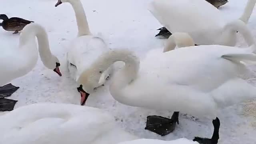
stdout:
[(176, 32), (168, 38), (166, 46), (164, 47), (164, 52), (174, 50), (176, 45), (178, 48), (194, 46), (194, 41), (189, 34), (185, 32)]

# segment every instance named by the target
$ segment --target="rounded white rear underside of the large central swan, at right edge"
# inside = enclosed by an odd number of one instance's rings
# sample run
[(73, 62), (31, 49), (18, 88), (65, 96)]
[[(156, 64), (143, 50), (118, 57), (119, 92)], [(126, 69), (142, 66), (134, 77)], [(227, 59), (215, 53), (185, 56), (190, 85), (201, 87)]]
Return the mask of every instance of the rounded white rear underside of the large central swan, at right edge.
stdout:
[(225, 108), (256, 98), (256, 87), (242, 79), (230, 80), (212, 92), (218, 108)]

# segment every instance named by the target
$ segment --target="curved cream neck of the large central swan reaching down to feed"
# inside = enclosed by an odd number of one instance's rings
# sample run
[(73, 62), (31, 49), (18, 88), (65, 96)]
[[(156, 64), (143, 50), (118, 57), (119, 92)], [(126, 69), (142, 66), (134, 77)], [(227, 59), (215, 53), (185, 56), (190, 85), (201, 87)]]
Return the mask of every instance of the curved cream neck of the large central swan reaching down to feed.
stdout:
[(102, 54), (92, 64), (89, 70), (86, 70), (80, 74), (78, 83), (85, 87), (93, 88), (94, 86), (90, 86), (90, 84), (84, 83), (84, 81), (98, 81), (102, 72), (106, 71), (112, 64), (117, 61), (123, 61), (125, 66), (118, 70), (116, 74), (114, 74), (114, 81), (111, 84), (114, 84), (114, 86), (110, 87), (120, 90), (123, 86), (126, 86), (137, 76), (140, 66), (139, 58), (133, 52), (125, 49), (109, 50), (108, 52)]

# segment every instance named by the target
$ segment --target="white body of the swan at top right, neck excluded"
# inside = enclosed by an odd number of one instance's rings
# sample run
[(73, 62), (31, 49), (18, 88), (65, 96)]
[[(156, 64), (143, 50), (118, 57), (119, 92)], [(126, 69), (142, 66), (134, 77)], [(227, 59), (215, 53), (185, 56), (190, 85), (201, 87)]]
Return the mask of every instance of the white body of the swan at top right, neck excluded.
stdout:
[(220, 11), (205, 0), (153, 0), (148, 10), (170, 32), (187, 32), (196, 44), (212, 44), (226, 24)]

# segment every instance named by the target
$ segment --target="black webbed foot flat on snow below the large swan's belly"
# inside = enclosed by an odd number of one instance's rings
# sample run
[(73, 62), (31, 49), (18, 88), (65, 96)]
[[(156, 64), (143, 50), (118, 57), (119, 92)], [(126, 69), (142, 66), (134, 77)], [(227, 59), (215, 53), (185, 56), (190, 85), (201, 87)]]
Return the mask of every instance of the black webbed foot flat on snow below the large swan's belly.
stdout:
[(179, 124), (179, 112), (174, 112), (172, 118), (162, 116), (148, 116), (145, 130), (149, 130), (161, 136), (165, 136), (174, 131), (176, 123)]

